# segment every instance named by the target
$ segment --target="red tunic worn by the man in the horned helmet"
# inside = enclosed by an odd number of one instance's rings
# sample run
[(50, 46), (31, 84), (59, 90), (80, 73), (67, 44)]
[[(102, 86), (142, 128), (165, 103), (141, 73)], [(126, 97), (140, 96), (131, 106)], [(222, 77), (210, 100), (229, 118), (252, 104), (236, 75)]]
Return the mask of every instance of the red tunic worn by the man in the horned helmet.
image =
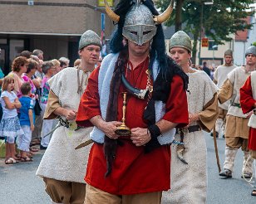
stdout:
[[(133, 69), (126, 69), (126, 77), (131, 85), (145, 89), (148, 59)], [(80, 125), (91, 126), (89, 119), (101, 115), (98, 94), (99, 68), (91, 73), (89, 84), (78, 109), (76, 122)], [(163, 119), (185, 126), (188, 124), (188, 106), (183, 81), (175, 75), (171, 83), (169, 99), (166, 103), (166, 114)], [(121, 92), (125, 87), (121, 85), (118, 96), (117, 119), (122, 118), (123, 98)], [(106, 101), (107, 103), (108, 101)], [(147, 100), (140, 100), (128, 96), (126, 109), (126, 125), (132, 129), (146, 128), (143, 111)], [(85, 181), (93, 187), (116, 195), (129, 195), (144, 192), (159, 192), (170, 189), (170, 147), (163, 146), (151, 153), (145, 153), (144, 147), (136, 147), (130, 137), (119, 138), (123, 146), (118, 146), (116, 159), (113, 163), (111, 175), (106, 173), (106, 159), (103, 145), (94, 143), (88, 160)]]

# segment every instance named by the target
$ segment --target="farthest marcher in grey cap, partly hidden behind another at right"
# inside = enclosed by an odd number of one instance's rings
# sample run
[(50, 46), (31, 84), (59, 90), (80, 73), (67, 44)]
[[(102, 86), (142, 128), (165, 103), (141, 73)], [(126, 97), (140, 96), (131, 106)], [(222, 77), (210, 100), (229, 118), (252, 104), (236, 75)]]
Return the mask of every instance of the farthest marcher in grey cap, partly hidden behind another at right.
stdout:
[[(228, 49), (224, 52), (224, 65), (218, 66), (214, 72), (214, 83), (220, 88), (224, 81), (227, 80), (228, 74), (231, 70), (234, 70), (236, 67), (233, 65), (233, 51)], [(219, 118), (215, 124), (216, 137), (219, 138), (219, 135), (223, 135), (225, 133), (226, 126), (226, 115), (228, 113), (230, 101), (226, 101), (224, 104), (219, 104)], [(213, 133), (211, 133), (213, 136)]]

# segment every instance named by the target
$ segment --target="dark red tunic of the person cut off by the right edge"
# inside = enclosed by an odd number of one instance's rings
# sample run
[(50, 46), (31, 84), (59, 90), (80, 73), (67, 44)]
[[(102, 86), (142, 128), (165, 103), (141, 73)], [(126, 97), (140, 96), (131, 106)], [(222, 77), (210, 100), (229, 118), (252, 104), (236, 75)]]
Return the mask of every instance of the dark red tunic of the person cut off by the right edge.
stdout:
[[(243, 113), (249, 113), (254, 109), (256, 100), (253, 98), (253, 90), (251, 85), (251, 76), (245, 81), (245, 84), (240, 89), (240, 103)], [(256, 150), (256, 129), (249, 129), (248, 148)]]

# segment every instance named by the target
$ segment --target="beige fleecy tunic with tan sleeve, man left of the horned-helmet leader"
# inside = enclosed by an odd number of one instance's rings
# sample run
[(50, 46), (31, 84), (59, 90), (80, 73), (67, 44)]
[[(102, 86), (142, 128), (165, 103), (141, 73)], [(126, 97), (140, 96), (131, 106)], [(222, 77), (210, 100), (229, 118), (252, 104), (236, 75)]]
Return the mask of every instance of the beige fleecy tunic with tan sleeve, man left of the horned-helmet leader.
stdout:
[[(79, 71), (82, 94), (86, 89), (90, 73), (83, 73), (82, 70)], [(77, 84), (77, 70), (73, 67), (62, 70), (49, 80), (52, 91), (49, 95), (50, 99), (47, 104), (46, 118), (54, 118), (56, 115), (52, 114), (52, 112), (59, 106), (65, 109), (78, 109), (81, 94), (77, 93)], [(66, 182), (84, 183), (86, 163), (91, 146), (77, 150), (75, 148), (89, 138), (90, 132), (91, 128), (74, 131), (61, 126), (56, 129), (39, 164), (37, 176)]]

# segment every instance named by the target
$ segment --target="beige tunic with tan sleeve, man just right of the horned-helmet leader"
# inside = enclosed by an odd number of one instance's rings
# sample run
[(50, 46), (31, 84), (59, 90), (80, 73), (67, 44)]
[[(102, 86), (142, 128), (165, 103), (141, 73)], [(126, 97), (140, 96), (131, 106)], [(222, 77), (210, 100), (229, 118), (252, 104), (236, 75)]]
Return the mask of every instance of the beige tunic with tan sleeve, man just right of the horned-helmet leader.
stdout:
[[(190, 77), (187, 99), (189, 112), (199, 113), (196, 125), (210, 131), (218, 118), (217, 86), (204, 71), (188, 74)], [(175, 134), (180, 141), (180, 135)], [(176, 145), (171, 146), (171, 187), (168, 203), (205, 203), (207, 188), (206, 143), (203, 131), (185, 134), (184, 158), (188, 165), (177, 158)]]

